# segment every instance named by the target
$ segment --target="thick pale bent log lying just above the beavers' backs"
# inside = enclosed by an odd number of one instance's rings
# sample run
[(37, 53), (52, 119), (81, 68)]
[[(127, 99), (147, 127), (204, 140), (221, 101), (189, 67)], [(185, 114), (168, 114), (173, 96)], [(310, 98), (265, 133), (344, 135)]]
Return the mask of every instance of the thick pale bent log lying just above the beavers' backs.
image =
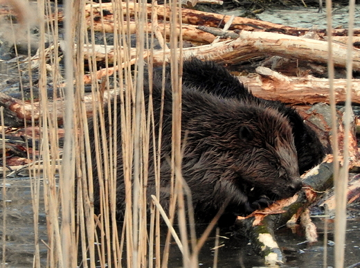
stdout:
[[(334, 66), (345, 67), (347, 46), (333, 44)], [(213, 60), (226, 64), (235, 64), (249, 60), (260, 55), (278, 55), (296, 60), (309, 62), (320, 62), (327, 64), (327, 42), (307, 39), (302, 37), (291, 37), (277, 33), (256, 33), (243, 30), (240, 37), (235, 40), (218, 42), (204, 46), (183, 48), (183, 57), (196, 56), (200, 59)], [(170, 50), (154, 51), (153, 60), (155, 65), (170, 59)], [(147, 53), (145, 53), (147, 56)], [(109, 51), (108, 57), (114, 57), (114, 52)], [(135, 58), (136, 55), (130, 55)], [(353, 49), (353, 69), (360, 71), (360, 50)], [(108, 69), (111, 75), (111, 69)], [(100, 74), (96, 75), (98, 78)]]

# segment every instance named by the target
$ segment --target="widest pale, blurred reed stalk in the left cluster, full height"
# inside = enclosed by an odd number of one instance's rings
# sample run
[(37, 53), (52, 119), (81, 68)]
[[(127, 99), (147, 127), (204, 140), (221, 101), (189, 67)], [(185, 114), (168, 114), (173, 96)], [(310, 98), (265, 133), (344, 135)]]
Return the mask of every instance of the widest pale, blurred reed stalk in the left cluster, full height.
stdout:
[[(74, 2), (74, 5), (71, 1), (65, 1), (64, 3), (64, 14), (66, 20), (64, 21), (64, 39), (67, 44), (73, 44), (75, 42), (75, 25), (78, 21), (75, 18), (75, 15), (80, 11), (79, 4), (81, 1)], [(66, 78), (66, 88), (64, 95), (64, 149), (62, 154), (62, 172), (60, 172), (60, 204), (62, 208), (62, 223), (61, 223), (61, 246), (62, 246), (62, 265), (64, 267), (74, 267), (76, 265), (76, 252), (77, 249), (75, 246), (75, 222), (73, 211), (74, 195), (75, 195), (75, 155), (74, 155), (74, 87), (73, 83), (73, 72), (74, 70), (74, 61), (73, 61), (73, 52), (71, 47), (67, 46), (66, 51), (64, 51), (67, 57), (65, 57), (65, 78)]]

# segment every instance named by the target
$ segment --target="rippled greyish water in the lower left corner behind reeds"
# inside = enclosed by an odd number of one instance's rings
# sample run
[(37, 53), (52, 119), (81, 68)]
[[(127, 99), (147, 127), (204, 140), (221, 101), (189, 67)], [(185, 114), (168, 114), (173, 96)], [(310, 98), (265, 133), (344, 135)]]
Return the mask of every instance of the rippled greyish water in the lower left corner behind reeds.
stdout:
[[(0, 240), (3, 244), (3, 183), (0, 184)], [(42, 193), (40, 193), (42, 195)], [(39, 246), (46, 262), (47, 240), (44, 199), (39, 202)], [(33, 204), (29, 178), (6, 179), (6, 267), (32, 267), (35, 253)], [(0, 256), (2, 255), (0, 248)]]

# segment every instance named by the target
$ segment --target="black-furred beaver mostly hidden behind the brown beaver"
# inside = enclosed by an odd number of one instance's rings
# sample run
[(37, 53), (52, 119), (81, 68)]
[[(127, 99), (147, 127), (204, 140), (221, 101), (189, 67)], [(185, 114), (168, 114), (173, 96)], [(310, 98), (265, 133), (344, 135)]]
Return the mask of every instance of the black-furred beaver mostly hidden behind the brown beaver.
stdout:
[[(169, 69), (167, 75), (169, 75)], [(325, 149), (316, 132), (305, 123), (294, 108), (280, 101), (264, 100), (253, 96), (251, 91), (244, 87), (239, 79), (231, 75), (224, 66), (212, 61), (201, 61), (196, 57), (189, 58), (183, 62), (183, 85), (195, 87), (222, 98), (237, 98), (255, 105), (261, 104), (285, 115), (292, 127), (300, 175), (324, 159)]]

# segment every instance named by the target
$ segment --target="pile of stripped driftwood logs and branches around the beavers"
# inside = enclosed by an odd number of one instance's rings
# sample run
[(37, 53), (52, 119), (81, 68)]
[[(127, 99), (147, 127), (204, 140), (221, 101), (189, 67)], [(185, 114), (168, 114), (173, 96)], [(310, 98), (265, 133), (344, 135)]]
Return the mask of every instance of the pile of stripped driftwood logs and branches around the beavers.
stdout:
[[(134, 16), (136, 9), (135, 3), (120, 5), (124, 15)], [(156, 38), (161, 40), (170, 35), (170, 25), (168, 16), (170, 10), (164, 6), (147, 6), (149, 20), (147, 31), (154, 32)], [(154, 15), (155, 14), (155, 15)], [(58, 14), (53, 21), (62, 21), (62, 14)], [(114, 32), (114, 10), (111, 3), (87, 5), (85, 18), (87, 26), (100, 32)], [(127, 26), (135, 33), (137, 30), (135, 22), (128, 22)], [(196, 56), (200, 59), (214, 60), (222, 64), (234, 65), (244, 62), (257, 62), (257, 67), (250, 73), (240, 76), (240, 80), (246, 84), (255, 96), (270, 100), (281, 100), (289, 105), (296, 106), (296, 109), (303, 115), (309, 125), (312, 125), (321, 137), (321, 141), (327, 152), (331, 153), (330, 135), (330, 107), (329, 103), (329, 80), (327, 73), (327, 33), (326, 30), (309, 30), (305, 28), (293, 28), (279, 24), (272, 24), (266, 21), (246, 19), (242, 17), (231, 17), (208, 12), (200, 12), (183, 8), (182, 25), (177, 30), (183, 35), (183, 40), (192, 43), (191, 47), (183, 48), (183, 56)], [(227, 30), (223, 30), (226, 28)], [(162, 33), (165, 33), (163, 36)], [(332, 30), (333, 40), (332, 50), (334, 54), (334, 65), (339, 73), (345, 69), (345, 59), (348, 41), (347, 30)], [(360, 41), (360, 29), (354, 30), (353, 42)], [(162, 42), (159, 42), (162, 44)], [(196, 45), (195, 45), (196, 44)], [(114, 63), (114, 47), (101, 45), (85, 46), (84, 60), (96, 57), (97, 62)], [(165, 53), (165, 57), (163, 57)], [(149, 57), (149, 53), (144, 53), (144, 58)], [(164, 47), (162, 50), (154, 51), (152, 54), (154, 66), (163, 63), (163, 59), (168, 60), (170, 50)], [(132, 51), (130, 62), (134, 63), (136, 51)], [(360, 71), (360, 50), (352, 48), (352, 59), (354, 71)], [(260, 66), (262, 65), (262, 66)], [(271, 67), (271, 68), (269, 68)], [(96, 78), (100, 80), (105, 75), (111, 75), (114, 71), (122, 68), (121, 64), (110, 68), (97, 71)], [(278, 71), (281, 71), (279, 73)], [(314, 76), (316, 75), (316, 77)], [(334, 80), (336, 91), (336, 102), (345, 101), (345, 85), (343, 78)], [(84, 82), (90, 83), (90, 75), (84, 76)], [(352, 100), (360, 104), (360, 80), (352, 80)], [(105, 93), (112, 96), (114, 92), (110, 90)], [(105, 97), (106, 97), (105, 96)], [(55, 105), (49, 105), (49, 111), (57, 113), (58, 122), (62, 123), (62, 100), (55, 100), (57, 111), (52, 111)], [(85, 99), (88, 103), (87, 111), (91, 114), (91, 98)], [(41, 115), (39, 102), (30, 105), (10, 96), (0, 93), (0, 105), (5, 107), (8, 114), (10, 126), (21, 125), (24, 120), (34, 119), (35, 122)], [(313, 106), (306, 106), (313, 105)], [(31, 112), (32, 111), (32, 112)], [(343, 132), (342, 111), (338, 111), (339, 116), (339, 144), (343, 146), (344, 135), (350, 135), (350, 168), (356, 170), (360, 167), (359, 152), (355, 131), (345, 134)], [(12, 121), (11, 121), (12, 120)], [(22, 123), (21, 123), (22, 122)], [(354, 128), (357, 118), (354, 118)], [(11, 134), (13, 129), (8, 129)], [(278, 204), (273, 204), (264, 211), (256, 211), (246, 219), (239, 219), (238, 224), (242, 231), (248, 235), (255, 249), (258, 249), (264, 258), (269, 262), (282, 261), (282, 253), (276, 244), (273, 230), (289, 222), (296, 223), (302, 215), (301, 222), (307, 222), (309, 218), (308, 208), (316, 202), (325, 192), (332, 188), (332, 156), (325, 159), (321, 166), (310, 171), (305, 175), (305, 187), (298, 195), (291, 199), (283, 200)], [(314, 175), (316, 174), (316, 175)], [(359, 184), (358, 184), (359, 185)], [(359, 196), (358, 196), (359, 197)], [(357, 197), (357, 198), (358, 198)], [(352, 198), (353, 202), (356, 198)], [(261, 229), (261, 230), (260, 230)], [(309, 242), (316, 240), (311, 221), (307, 222), (307, 239)], [(315, 232), (316, 233), (316, 232)], [(269, 236), (273, 240), (272, 245), (266, 244), (262, 237)], [(269, 240), (268, 240), (269, 241)], [(271, 243), (270, 243), (271, 244)]]

